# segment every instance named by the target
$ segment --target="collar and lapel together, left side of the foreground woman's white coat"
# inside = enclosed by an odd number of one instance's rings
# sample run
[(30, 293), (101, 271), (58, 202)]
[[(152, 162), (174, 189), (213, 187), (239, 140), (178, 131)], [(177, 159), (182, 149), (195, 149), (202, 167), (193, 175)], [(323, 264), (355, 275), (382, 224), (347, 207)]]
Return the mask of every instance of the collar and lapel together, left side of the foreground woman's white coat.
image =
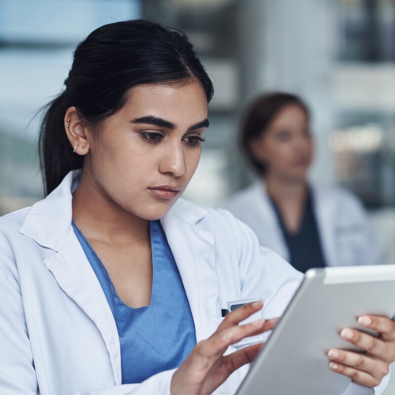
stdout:
[(54, 251), (44, 260), (59, 286), (95, 322), (106, 343), (117, 384), (121, 381), (118, 330), (102, 287), (73, 231), (72, 190), (79, 171), (71, 171), (45, 199), (35, 203), (19, 233)]

